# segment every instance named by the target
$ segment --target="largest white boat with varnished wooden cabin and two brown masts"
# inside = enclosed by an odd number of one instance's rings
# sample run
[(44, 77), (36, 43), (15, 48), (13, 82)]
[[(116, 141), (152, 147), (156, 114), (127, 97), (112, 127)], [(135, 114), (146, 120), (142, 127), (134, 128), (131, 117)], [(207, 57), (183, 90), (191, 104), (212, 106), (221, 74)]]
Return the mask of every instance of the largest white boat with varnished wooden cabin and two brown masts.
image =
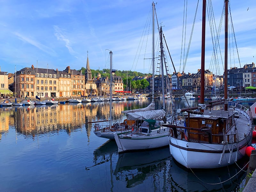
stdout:
[[(205, 12), (206, 0), (203, 0), (201, 73), (204, 73)], [(225, 34), (228, 34), (228, 15), (226, 0)], [(234, 164), (245, 155), (247, 146), (252, 144), (250, 109), (228, 100), (227, 56), (228, 35), (225, 35), (225, 99), (204, 104), (204, 75), (201, 75), (199, 106), (177, 110), (178, 113), (188, 113), (183, 126), (163, 125), (170, 128), (169, 146), (173, 158), (187, 168), (208, 169)]]

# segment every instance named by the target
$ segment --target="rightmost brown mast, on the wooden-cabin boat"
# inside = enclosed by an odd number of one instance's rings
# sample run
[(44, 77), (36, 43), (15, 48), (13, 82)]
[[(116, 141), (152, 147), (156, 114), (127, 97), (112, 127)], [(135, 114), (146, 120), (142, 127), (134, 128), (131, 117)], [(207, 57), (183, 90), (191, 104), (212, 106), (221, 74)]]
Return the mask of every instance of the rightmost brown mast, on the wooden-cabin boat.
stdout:
[[(225, 0), (224, 98), (227, 101), (228, 99), (228, 0)], [(228, 110), (227, 102), (224, 104), (224, 110), (225, 111)]]

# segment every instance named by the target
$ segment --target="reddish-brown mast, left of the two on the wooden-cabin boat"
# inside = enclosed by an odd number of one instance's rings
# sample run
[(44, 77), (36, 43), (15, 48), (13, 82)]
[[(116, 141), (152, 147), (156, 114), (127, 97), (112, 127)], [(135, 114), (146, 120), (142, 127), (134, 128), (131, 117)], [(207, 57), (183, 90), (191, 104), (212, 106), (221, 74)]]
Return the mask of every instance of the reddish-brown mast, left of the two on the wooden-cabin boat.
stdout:
[[(201, 53), (201, 87), (200, 87), (200, 104), (201, 105), (204, 105), (205, 14), (206, 14), (206, 0), (203, 0), (203, 13), (202, 13), (202, 53)], [(200, 111), (204, 112), (204, 108), (202, 108)]]

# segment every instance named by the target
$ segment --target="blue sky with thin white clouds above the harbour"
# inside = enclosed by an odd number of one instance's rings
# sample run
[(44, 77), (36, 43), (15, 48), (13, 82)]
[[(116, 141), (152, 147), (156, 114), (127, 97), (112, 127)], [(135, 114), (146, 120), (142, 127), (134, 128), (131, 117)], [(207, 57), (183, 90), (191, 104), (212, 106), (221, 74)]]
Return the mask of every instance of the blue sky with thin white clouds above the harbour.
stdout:
[[(157, 18), (163, 26), (172, 59), (179, 71), (180, 63), (183, 62), (180, 61), (180, 55), (184, 1), (156, 2)], [(109, 49), (113, 52), (113, 68), (152, 72), (149, 60), (144, 60), (152, 57), (151, 31), (147, 37), (147, 48), (139, 48), (152, 9), (151, 0), (0, 0), (0, 4), (1, 71), (14, 73), (15, 65), (16, 70), (32, 64), (36, 67), (36, 60), (38, 68), (47, 68), (48, 63), (49, 68), (58, 70), (64, 70), (67, 66), (80, 69), (86, 66), (87, 50), (91, 69), (102, 70), (109, 68), (106, 51)], [(196, 0), (188, 1), (186, 42), (191, 32), (196, 4)], [(216, 23), (219, 23), (223, 4), (222, 0), (212, 0)], [(231, 0), (230, 5), (243, 67), (246, 63), (255, 62), (256, 58), (256, 4), (254, 0)], [(199, 1), (186, 73), (196, 73), (200, 68), (201, 9), (202, 0)], [(223, 44), (220, 46), (224, 49)], [(206, 69), (211, 57), (211, 34), (206, 29)], [(233, 55), (231, 58), (236, 60)], [(233, 61), (228, 68), (231, 66), (240, 67), (238, 62)], [(222, 64), (220, 68), (223, 72)], [(170, 71), (173, 72), (171, 65)]]

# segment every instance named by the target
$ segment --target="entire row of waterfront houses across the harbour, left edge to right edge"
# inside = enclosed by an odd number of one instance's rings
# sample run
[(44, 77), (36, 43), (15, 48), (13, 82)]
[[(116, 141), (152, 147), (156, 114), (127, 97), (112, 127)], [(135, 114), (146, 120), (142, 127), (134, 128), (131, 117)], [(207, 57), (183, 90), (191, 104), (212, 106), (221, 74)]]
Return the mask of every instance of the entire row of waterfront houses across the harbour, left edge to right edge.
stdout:
[[(124, 90), (124, 82), (120, 76), (112, 73), (112, 91), (115, 93), (130, 92), (130, 88)], [(243, 68), (231, 68), (228, 70), (228, 87), (256, 87), (256, 68), (255, 64), (246, 64)], [(149, 86), (144, 92), (151, 93), (153, 87), (152, 76), (136, 76), (132, 80), (147, 79)], [(210, 70), (204, 71), (204, 89), (222, 88), (224, 76), (216, 76)], [(14, 92), (16, 97), (74, 97), (88, 95), (108, 95), (110, 92), (110, 79), (101, 77), (100, 73), (97, 77), (92, 76), (87, 56), (86, 70), (83, 75), (81, 72), (66, 67), (65, 70), (35, 68), (22, 68), (15, 74), (1, 72), (0, 69), (1, 95)], [(5, 86), (5, 85), (8, 85)], [(186, 74), (178, 72), (177, 75), (165, 75), (162, 83), (161, 76), (155, 76), (154, 91), (160, 92), (162, 85), (164, 90), (179, 90), (180, 85), (186, 90), (199, 90), (201, 84), (201, 69), (197, 73)]]

